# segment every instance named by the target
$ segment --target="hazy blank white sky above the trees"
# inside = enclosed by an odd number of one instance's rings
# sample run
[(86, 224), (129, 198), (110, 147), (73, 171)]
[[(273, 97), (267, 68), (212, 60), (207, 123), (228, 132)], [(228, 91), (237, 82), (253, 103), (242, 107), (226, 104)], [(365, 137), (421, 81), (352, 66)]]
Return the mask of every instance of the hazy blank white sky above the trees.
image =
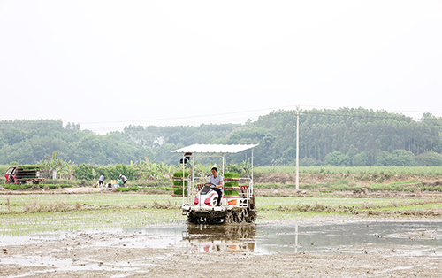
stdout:
[(0, 120), (244, 123), (271, 110), (442, 116), (442, 1), (0, 0)]

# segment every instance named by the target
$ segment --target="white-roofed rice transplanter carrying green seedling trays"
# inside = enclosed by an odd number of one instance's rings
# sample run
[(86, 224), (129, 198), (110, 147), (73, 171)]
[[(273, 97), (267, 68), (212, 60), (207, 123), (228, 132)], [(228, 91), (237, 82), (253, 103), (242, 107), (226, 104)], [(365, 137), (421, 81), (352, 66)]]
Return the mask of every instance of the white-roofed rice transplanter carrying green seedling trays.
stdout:
[[(192, 223), (241, 223), (255, 222), (256, 208), (253, 189), (253, 148), (257, 144), (248, 145), (218, 145), (194, 144), (173, 153), (182, 153), (182, 174), (174, 176), (174, 181), (180, 181), (179, 189), (174, 196), (182, 197), (181, 209), (187, 214), (187, 220)], [(246, 177), (227, 175), (225, 173), (225, 154), (251, 150), (251, 171)], [(196, 176), (194, 171), (195, 157), (222, 158), (222, 168), (218, 174), (224, 177), (224, 194), (221, 205), (217, 206), (217, 191), (214, 185), (208, 183), (208, 177)], [(187, 174), (186, 165), (190, 164)], [(219, 171), (220, 170), (220, 171)], [(225, 174), (227, 176), (225, 176)], [(176, 182), (174, 182), (175, 184)], [(175, 186), (177, 187), (177, 186)]]

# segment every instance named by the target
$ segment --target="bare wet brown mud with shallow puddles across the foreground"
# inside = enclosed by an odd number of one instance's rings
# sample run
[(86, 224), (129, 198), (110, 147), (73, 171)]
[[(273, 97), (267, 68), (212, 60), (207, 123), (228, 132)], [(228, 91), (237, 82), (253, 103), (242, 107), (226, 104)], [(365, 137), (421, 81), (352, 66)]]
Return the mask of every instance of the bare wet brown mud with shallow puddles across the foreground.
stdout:
[(1, 277), (440, 277), (442, 220), (318, 217), (0, 237)]

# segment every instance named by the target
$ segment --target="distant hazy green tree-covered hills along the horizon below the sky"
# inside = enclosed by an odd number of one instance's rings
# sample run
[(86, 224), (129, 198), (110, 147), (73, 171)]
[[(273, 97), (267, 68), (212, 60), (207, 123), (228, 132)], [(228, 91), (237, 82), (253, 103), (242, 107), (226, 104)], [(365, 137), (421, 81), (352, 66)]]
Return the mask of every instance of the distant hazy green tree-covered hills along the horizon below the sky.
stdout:
[[(442, 117), (367, 109), (300, 112), (301, 166), (442, 166)], [(170, 151), (193, 143), (258, 143), (254, 164), (293, 165), (296, 111), (275, 111), (245, 124), (156, 127), (127, 126), (96, 135), (61, 120), (0, 121), (0, 164), (34, 164), (54, 151), (77, 165), (106, 166), (150, 161), (176, 165)], [(227, 156), (239, 163), (250, 151)], [(210, 158), (201, 158), (208, 163)]]

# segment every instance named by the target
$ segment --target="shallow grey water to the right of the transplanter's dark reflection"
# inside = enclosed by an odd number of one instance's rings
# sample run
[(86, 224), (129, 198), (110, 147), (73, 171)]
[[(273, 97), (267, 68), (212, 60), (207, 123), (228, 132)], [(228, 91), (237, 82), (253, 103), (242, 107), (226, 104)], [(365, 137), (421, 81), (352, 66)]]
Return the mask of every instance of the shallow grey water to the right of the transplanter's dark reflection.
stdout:
[[(299, 226), (299, 227), (298, 227)], [(344, 222), (263, 225), (255, 253), (389, 252), (442, 255), (442, 222)]]

